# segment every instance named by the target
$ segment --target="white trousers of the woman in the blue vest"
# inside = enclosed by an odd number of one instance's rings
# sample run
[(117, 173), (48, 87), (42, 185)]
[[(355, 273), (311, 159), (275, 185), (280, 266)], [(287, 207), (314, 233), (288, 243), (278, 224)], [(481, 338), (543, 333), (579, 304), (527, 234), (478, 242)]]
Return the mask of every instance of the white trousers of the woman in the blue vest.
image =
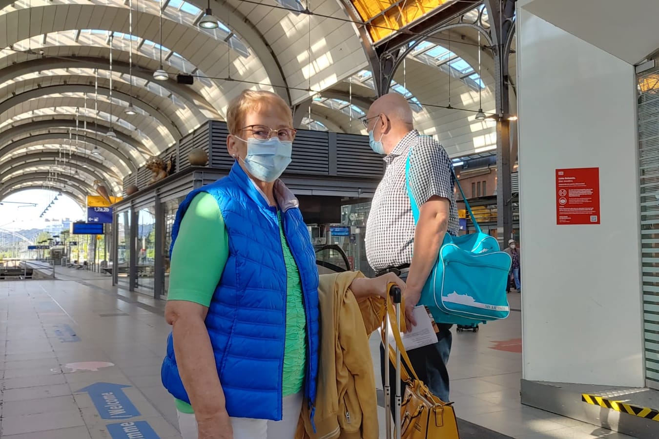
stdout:
[[(233, 439), (294, 439), (302, 410), (302, 399), (302, 392), (284, 397), (281, 421), (229, 418), (233, 428)], [(178, 415), (183, 439), (197, 439), (197, 421), (194, 419), (194, 413), (179, 411)]]

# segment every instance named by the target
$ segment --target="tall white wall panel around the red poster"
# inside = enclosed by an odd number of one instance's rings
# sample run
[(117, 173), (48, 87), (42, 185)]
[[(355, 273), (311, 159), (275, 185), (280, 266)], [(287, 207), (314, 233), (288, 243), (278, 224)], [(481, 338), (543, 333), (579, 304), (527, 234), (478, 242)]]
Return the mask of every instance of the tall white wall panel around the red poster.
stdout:
[[(517, 32), (523, 378), (644, 386), (634, 67), (523, 3)], [(601, 224), (557, 225), (556, 169), (590, 167)]]

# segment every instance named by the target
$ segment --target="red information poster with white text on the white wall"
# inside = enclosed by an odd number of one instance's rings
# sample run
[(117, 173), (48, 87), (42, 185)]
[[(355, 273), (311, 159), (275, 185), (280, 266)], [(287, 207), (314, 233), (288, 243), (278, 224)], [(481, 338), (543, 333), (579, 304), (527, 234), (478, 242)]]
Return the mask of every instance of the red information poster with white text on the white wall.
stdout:
[(556, 170), (556, 224), (600, 224), (600, 168)]

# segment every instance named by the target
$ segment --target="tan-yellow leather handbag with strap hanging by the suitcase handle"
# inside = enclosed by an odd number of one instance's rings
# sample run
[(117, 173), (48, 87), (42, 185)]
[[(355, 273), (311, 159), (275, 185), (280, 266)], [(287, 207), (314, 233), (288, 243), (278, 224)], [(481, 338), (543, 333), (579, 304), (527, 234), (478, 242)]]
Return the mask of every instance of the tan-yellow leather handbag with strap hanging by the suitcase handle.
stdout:
[[(393, 338), (401, 351), (404, 364), (401, 365), (401, 378), (405, 381), (405, 392), (401, 407), (401, 439), (459, 439), (453, 403), (447, 403), (434, 396), (428, 387), (418, 379), (414, 367), (403, 347), (400, 327), (391, 297), (387, 294), (386, 309), (391, 322)], [(403, 307), (403, 309), (405, 309)], [(386, 319), (386, 317), (385, 317)], [(383, 324), (384, 328), (384, 324)], [(382, 330), (382, 340), (388, 345)], [(389, 346), (389, 359), (395, 365), (395, 351)], [(409, 376), (407, 371), (412, 376)], [(388, 413), (387, 413), (388, 415)]]

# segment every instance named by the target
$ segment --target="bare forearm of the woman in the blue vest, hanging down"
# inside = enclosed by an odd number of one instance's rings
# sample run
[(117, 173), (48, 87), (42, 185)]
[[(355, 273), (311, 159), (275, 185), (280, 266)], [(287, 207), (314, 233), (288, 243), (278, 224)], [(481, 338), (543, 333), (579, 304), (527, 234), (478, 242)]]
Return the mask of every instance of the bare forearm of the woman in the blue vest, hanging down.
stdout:
[(198, 317), (181, 318), (173, 325), (172, 335), (181, 380), (197, 421), (224, 413), (224, 392), (204, 321)]

